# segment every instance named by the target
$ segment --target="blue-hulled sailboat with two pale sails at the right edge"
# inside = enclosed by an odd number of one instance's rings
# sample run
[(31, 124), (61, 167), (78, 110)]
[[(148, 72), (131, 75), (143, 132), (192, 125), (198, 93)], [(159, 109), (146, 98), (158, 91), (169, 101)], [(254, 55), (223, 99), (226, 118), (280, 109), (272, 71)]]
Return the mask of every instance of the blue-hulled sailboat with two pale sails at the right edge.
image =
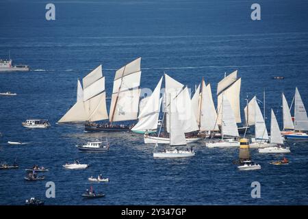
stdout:
[[(308, 139), (308, 134), (303, 131), (308, 131), (308, 117), (302, 98), (298, 89), (295, 90), (294, 96), (294, 125), (290, 114), (290, 109), (287, 105), (287, 100), (283, 95), (283, 136), (286, 139)], [(293, 131), (287, 131), (287, 130)]]

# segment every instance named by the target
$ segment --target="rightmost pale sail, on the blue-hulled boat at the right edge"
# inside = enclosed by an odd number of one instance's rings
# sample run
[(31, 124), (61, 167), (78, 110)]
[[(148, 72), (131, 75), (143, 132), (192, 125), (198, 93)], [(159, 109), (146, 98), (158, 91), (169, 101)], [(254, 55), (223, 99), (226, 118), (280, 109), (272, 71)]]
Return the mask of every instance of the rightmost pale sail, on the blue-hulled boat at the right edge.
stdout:
[(295, 90), (294, 127), (296, 130), (308, 131), (308, 118), (305, 105), (298, 89)]

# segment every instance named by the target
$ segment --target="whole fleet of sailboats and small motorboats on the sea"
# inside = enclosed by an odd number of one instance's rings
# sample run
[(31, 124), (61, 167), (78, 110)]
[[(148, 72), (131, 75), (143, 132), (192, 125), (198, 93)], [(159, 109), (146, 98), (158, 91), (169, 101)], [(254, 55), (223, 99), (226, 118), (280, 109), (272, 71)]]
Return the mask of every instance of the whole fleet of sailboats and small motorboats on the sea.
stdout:
[[(0, 62), (7, 64), (5, 61)], [(10, 62), (8, 62), (10, 63)], [(211, 92), (210, 83), (202, 79), (196, 86), (194, 94), (179, 81), (166, 73), (162, 76), (153, 93), (140, 99), (141, 58), (116, 70), (110, 103), (107, 112), (105, 77), (102, 66), (92, 70), (82, 79), (77, 79), (77, 100), (73, 107), (58, 120), (57, 123), (83, 123), (84, 131), (133, 131), (143, 135), (145, 144), (153, 144), (154, 158), (178, 159), (194, 157), (192, 146), (188, 144), (204, 141), (208, 148), (239, 148), (239, 159), (233, 162), (238, 170), (259, 170), (261, 166), (251, 159), (251, 149), (258, 149), (259, 153), (290, 153), (290, 146), (285, 146), (287, 140), (308, 139), (308, 117), (305, 105), (296, 88), (291, 106), (287, 104), (282, 94), (283, 131), (279, 129), (277, 118), (271, 110), (270, 136), (265, 123), (265, 94), (264, 112), (259, 107), (257, 96), (247, 103), (244, 108), (245, 122), (242, 124), (240, 114), (241, 78), (235, 70), (224, 78), (217, 86), (217, 107)], [(164, 92), (162, 85), (164, 80)], [(14, 95), (10, 92), (1, 95)], [(290, 109), (294, 104), (294, 117)], [(162, 116), (162, 119), (159, 118)], [(102, 121), (105, 121), (102, 122)], [(133, 122), (136, 124), (133, 124)], [(45, 119), (27, 119), (22, 123), (27, 128), (51, 127)], [(252, 138), (246, 138), (248, 130), (254, 127)], [(244, 133), (244, 137), (240, 136)], [(219, 139), (218, 139), (219, 138)], [(8, 144), (25, 144), (23, 142), (8, 141)], [(201, 144), (202, 145), (202, 144)], [(76, 146), (79, 151), (101, 152), (110, 149), (110, 143), (95, 140)], [(161, 149), (162, 148), (162, 149)], [(273, 165), (289, 164), (285, 158), (282, 161), (271, 162)], [(78, 161), (66, 163), (64, 168), (70, 170), (84, 170), (88, 164)], [(0, 169), (18, 168), (17, 164), (1, 164)], [(37, 172), (47, 172), (46, 168), (25, 169), (29, 172), (27, 181), (44, 180)], [(90, 182), (107, 182), (109, 178), (99, 175), (89, 177)], [(96, 194), (92, 187), (82, 194), (85, 198), (99, 198), (105, 194)], [(30, 199), (28, 204), (34, 203)], [(40, 201), (38, 202), (40, 203)]]

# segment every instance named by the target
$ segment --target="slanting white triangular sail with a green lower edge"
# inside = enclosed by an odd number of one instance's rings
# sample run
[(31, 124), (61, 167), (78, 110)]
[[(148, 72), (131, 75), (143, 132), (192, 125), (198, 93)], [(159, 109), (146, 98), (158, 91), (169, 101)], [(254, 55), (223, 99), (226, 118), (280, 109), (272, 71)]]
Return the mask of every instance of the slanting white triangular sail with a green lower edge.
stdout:
[(144, 105), (143, 110), (138, 116), (138, 123), (131, 129), (132, 131), (157, 129), (160, 107), (162, 105), (162, 98), (159, 99), (162, 79), (159, 80), (155, 90), (148, 97), (146, 105)]

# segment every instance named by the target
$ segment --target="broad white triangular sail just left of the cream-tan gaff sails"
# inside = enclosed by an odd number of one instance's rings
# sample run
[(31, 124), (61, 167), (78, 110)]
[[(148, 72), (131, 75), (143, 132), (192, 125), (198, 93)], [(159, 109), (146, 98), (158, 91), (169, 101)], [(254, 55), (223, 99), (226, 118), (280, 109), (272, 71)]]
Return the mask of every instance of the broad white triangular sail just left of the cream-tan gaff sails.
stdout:
[(209, 90), (211, 87), (205, 86), (204, 81), (202, 83), (200, 131), (217, 131), (217, 114)]

